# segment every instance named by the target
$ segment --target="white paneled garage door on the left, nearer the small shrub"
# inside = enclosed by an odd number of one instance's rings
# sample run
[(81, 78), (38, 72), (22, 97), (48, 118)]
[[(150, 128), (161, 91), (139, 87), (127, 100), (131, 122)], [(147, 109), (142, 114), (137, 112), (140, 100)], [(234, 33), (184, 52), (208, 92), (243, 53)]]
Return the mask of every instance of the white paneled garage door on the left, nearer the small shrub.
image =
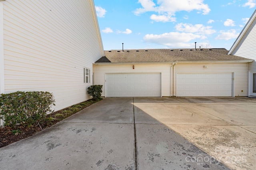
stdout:
[(161, 73), (106, 74), (107, 97), (161, 97)]

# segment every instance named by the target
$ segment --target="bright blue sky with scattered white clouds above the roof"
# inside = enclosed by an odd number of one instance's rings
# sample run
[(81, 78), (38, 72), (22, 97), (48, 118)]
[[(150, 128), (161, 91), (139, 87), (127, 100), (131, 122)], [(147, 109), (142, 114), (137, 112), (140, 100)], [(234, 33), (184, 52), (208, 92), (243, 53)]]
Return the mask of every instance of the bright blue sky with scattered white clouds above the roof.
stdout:
[(104, 50), (226, 48), (256, 0), (94, 0)]

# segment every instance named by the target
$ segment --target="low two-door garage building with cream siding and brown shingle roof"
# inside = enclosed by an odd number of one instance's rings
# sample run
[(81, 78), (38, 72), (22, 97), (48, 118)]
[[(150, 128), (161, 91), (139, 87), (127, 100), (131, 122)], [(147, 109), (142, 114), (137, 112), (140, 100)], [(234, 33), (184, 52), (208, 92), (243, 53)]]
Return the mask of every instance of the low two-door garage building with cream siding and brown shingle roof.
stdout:
[(94, 63), (94, 84), (105, 97), (247, 96), (251, 59), (226, 49), (105, 51)]

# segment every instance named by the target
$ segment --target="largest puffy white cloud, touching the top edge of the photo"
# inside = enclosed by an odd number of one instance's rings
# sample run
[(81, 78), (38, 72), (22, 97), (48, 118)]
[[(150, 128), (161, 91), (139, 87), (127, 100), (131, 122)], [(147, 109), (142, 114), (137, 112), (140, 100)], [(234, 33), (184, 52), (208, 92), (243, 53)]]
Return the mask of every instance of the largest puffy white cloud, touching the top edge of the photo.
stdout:
[[(140, 15), (145, 12), (156, 12), (150, 18), (156, 21), (174, 21), (173, 16), (179, 11), (192, 11), (198, 10), (203, 14), (208, 14), (210, 8), (207, 4), (203, 3), (204, 0), (158, 0), (157, 5), (153, 0), (139, 0), (142, 8), (137, 8), (134, 12), (135, 15)], [(164, 17), (165, 16), (165, 17)]]

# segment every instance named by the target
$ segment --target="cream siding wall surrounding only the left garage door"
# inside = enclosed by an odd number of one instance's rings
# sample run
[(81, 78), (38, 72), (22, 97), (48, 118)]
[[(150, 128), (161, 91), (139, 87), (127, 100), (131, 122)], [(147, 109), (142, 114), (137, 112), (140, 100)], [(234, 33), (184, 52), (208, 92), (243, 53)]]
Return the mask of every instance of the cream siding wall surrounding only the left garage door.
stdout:
[[(133, 65), (134, 69), (132, 69)], [(170, 96), (171, 65), (172, 64), (94, 64), (94, 84), (103, 85), (102, 96), (105, 96), (106, 73), (162, 73), (162, 96)]]

